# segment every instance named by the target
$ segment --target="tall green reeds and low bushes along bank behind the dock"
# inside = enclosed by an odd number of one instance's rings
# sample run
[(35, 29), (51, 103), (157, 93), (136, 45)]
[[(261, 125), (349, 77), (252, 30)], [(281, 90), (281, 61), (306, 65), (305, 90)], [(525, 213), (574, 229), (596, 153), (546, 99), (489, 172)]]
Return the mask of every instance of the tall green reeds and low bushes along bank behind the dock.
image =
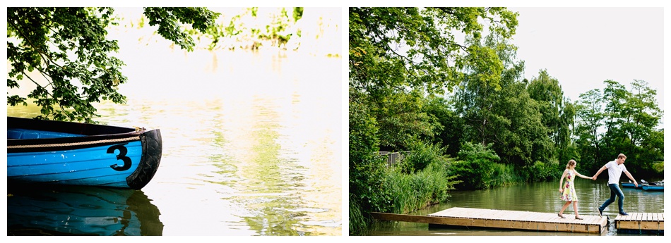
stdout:
[(395, 166), (386, 167), (383, 160), (373, 161), (378, 166), (369, 170), (372, 173), (365, 177), (366, 183), (355, 185), (357, 190), (350, 185), (350, 192), (355, 192), (349, 197), (350, 235), (364, 235), (372, 223), (370, 212), (410, 213), (448, 201), (453, 189), (505, 187), (525, 182), (532, 175), (550, 175), (556, 167), (537, 163), (516, 169), (497, 161), (499, 157), (489, 147), (477, 144), (466, 144), (458, 158), (448, 158), (432, 145), (418, 144)]

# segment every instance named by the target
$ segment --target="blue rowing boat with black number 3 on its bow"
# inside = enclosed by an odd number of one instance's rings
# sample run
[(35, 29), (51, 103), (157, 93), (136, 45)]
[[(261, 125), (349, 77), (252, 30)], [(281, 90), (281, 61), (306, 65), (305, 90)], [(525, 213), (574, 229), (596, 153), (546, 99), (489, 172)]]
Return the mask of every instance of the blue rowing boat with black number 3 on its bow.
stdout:
[(8, 185), (141, 189), (161, 160), (160, 130), (7, 118)]

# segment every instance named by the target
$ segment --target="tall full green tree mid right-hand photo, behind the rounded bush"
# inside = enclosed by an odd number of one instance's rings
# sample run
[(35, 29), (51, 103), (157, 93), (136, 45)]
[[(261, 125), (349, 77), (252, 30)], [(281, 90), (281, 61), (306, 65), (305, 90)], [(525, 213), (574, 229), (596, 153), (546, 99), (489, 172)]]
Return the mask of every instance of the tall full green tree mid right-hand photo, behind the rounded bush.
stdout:
[(472, 73), (465, 75), (455, 97), (456, 110), (464, 118), (464, 141), (493, 144), (502, 163), (517, 168), (533, 166), (535, 161), (556, 162), (538, 101), (531, 99), (527, 82), (520, 80), (524, 63), (516, 60), (517, 47), (496, 34), (487, 36), (482, 45), (495, 50), (504, 70), (498, 89), (472, 78), (477, 69), (469, 69)]

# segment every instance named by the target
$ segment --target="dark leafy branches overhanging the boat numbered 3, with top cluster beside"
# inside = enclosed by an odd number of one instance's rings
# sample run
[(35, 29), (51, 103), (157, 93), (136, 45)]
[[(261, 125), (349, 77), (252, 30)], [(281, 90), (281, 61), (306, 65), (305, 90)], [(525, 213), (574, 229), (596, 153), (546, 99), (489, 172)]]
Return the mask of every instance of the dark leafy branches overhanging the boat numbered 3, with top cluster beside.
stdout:
[[(218, 13), (206, 8), (144, 8), (158, 34), (183, 49), (195, 42), (185, 30), (212, 26)], [(7, 8), (7, 60), (11, 65), (7, 87), (32, 84), (25, 96), (9, 95), (11, 106), (33, 99), (41, 107), (40, 119), (78, 120), (94, 123), (95, 103), (110, 100), (123, 104), (117, 87), (128, 78), (124, 62), (114, 57), (116, 40), (107, 39), (106, 28), (117, 25), (113, 8)]]

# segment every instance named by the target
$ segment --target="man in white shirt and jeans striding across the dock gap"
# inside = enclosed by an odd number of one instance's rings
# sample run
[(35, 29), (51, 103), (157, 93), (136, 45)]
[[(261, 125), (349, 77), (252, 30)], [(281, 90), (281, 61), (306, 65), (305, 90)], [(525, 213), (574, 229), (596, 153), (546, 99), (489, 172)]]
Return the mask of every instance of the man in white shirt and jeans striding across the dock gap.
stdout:
[(624, 212), (624, 208), (622, 208), (622, 204), (624, 204), (624, 194), (622, 194), (622, 189), (619, 189), (619, 176), (622, 175), (622, 172), (624, 172), (624, 175), (627, 175), (631, 181), (634, 182), (634, 185), (636, 187), (639, 187), (639, 183), (636, 183), (636, 180), (634, 180), (634, 177), (631, 176), (631, 173), (627, 171), (627, 167), (624, 167), (624, 161), (627, 160), (627, 156), (624, 156), (624, 154), (619, 154), (617, 156), (617, 159), (614, 161), (610, 161), (606, 163), (605, 166), (599, 169), (599, 171), (592, 177), (592, 180), (596, 180), (596, 177), (599, 176), (599, 174), (603, 170), (608, 170), (608, 187), (610, 187), (610, 198), (607, 199), (598, 209), (599, 209), (599, 216), (602, 216), (603, 210), (610, 204), (615, 201), (615, 196), (617, 196), (617, 206), (619, 209), (619, 215), (622, 216), (628, 216), (629, 214)]

